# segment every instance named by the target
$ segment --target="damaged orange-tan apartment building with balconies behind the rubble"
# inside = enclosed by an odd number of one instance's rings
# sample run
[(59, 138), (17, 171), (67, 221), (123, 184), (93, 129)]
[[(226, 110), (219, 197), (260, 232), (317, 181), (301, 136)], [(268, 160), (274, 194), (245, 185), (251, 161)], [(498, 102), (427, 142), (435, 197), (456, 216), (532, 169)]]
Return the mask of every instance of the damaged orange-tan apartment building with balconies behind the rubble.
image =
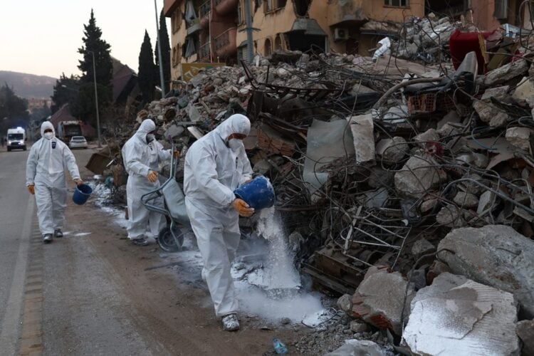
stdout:
[[(172, 78), (183, 63), (226, 63), (274, 51), (370, 56), (377, 42), (397, 38), (406, 19), (434, 13), (491, 31), (530, 21), (518, 0), (165, 0), (171, 19)], [(247, 18), (249, 21), (247, 21)], [(247, 48), (250, 33), (252, 51)]]

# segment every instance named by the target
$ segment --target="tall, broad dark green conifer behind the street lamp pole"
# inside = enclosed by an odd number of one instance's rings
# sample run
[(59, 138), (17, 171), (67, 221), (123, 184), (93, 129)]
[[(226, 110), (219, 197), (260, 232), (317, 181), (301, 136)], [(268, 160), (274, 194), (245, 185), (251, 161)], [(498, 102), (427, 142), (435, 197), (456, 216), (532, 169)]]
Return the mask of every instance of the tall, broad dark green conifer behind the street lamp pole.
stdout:
[(89, 23), (83, 25), (83, 46), (78, 53), (83, 55), (78, 68), (82, 71), (77, 98), (71, 107), (75, 117), (95, 124), (95, 92), (93, 83), (93, 53), (95, 58), (96, 82), (98, 88), (99, 110), (105, 110), (112, 100), (113, 63), (110, 55), (111, 46), (102, 39), (102, 30), (96, 26), (96, 19), (91, 9)]

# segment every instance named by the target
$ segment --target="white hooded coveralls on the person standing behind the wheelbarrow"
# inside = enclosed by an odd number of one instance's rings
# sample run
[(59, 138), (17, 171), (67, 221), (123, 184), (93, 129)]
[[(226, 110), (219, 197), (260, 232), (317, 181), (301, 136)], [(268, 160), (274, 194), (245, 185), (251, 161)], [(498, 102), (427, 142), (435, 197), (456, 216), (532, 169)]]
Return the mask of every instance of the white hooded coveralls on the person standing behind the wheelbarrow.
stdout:
[[(154, 121), (147, 119), (141, 122), (137, 132), (127, 140), (122, 147), (122, 162), (124, 162), (128, 181), (126, 184), (126, 197), (128, 205), (128, 238), (144, 239), (157, 237), (159, 230), (164, 227), (164, 217), (153, 211), (148, 211), (141, 204), (141, 197), (159, 187), (159, 180), (152, 183), (147, 175), (150, 171), (157, 172), (159, 160), (171, 158), (170, 150), (163, 150), (162, 144), (153, 140), (147, 142), (147, 134), (156, 130)], [(163, 199), (157, 198), (151, 204), (163, 207)], [(147, 236), (147, 227), (150, 227), (150, 236)]]

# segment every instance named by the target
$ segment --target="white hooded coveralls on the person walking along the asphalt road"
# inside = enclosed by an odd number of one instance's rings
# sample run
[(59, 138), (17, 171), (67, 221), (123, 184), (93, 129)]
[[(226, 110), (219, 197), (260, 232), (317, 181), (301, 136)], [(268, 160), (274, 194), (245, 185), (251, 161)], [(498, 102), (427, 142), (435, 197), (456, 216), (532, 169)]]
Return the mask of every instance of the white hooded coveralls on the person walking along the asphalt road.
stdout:
[[(54, 132), (51, 140), (44, 137), (47, 129)], [(37, 218), (43, 235), (63, 229), (67, 206), (65, 169), (68, 169), (72, 179), (80, 179), (73, 152), (55, 135), (52, 123), (43, 122), (41, 139), (31, 146), (26, 161), (26, 186), (35, 185)]]

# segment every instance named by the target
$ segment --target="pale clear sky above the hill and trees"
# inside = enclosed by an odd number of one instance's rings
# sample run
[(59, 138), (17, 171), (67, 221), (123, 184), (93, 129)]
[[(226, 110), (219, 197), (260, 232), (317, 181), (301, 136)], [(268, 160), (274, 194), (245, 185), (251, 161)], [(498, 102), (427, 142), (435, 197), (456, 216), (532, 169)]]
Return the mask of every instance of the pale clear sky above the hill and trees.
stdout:
[[(157, 0), (158, 16), (162, 7)], [(157, 39), (154, 0), (0, 0), (0, 70), (80, 74), (78, 48), (91, 9), (111, 56), (137, 71), (145, 29), (152, 47)]]

